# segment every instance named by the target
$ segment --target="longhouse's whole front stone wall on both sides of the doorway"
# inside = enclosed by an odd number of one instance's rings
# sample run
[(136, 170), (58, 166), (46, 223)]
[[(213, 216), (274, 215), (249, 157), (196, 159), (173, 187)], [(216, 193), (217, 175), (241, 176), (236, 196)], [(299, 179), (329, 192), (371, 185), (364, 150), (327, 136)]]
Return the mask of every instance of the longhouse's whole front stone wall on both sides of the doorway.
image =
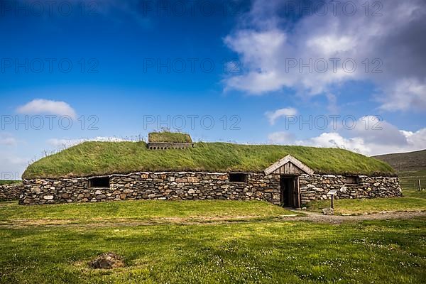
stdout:
[[(342, 175), (301, 175), (302, 204), (329, 198), (401, 196), (398, 178), (359, 176), (346, 185)], [(131, 173), (111, 175), (110, 187), (89, 187), (89, 178), (24, 180), (20, 204), (108, 200), (265, 200), (280, 204), (280, 175), (248, 173), (247, 182), (229, 182), (228, 173)]]

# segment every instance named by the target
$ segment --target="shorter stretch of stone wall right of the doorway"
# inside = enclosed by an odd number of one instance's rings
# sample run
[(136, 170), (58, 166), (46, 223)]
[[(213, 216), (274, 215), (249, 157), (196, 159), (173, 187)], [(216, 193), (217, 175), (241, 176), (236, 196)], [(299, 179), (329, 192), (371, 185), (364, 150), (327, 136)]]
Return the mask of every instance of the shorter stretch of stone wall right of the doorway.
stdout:
[(299, 178), (302, 204), (312, 200), (326, 200), (330, 190), (337, 190), (336, 199), (400, 197), (399, 178), (358, 176), (358, 184), (346, 184), (343, 175), (301, 175)]

